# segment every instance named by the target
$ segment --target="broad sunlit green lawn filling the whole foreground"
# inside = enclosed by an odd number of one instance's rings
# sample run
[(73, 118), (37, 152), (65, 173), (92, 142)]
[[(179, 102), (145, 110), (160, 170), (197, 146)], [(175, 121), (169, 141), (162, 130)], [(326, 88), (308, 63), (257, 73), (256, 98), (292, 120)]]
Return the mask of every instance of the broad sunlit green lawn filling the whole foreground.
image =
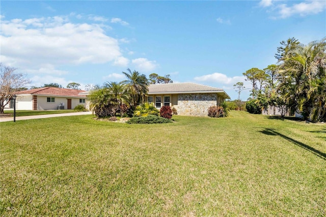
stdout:
[(92, 117), (1, 123), (0, 215), (326, 215), (326, 124)]

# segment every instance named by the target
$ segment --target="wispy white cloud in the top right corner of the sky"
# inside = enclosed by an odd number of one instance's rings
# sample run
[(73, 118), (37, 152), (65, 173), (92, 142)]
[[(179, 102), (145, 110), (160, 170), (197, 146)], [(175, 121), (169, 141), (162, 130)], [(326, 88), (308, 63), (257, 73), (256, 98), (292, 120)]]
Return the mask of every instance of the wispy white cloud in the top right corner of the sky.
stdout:
[(318, 14), (326, 9), (325, 1), (303, 1), (301, 3), (292, 5), (277, 4), (277, 1), (273, 1), (273, 3), (271, 0), (263, 0), (259, 2), (259, 6), (271, 7), (270, 12), (273, 14), (278, 14), (278, 16), (272, 16), (271, 18), (273, 19), (284, 19), (295, 15), (307, 16), (311, 14)]

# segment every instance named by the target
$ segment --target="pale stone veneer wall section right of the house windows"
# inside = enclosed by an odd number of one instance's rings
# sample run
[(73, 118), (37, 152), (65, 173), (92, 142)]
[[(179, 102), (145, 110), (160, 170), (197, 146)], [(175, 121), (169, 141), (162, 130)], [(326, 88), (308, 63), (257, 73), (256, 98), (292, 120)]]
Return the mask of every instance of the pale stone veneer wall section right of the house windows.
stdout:
[(178, 115), (207, 116), (208, 108), (218, 102), (217, 94), (179, 94)]

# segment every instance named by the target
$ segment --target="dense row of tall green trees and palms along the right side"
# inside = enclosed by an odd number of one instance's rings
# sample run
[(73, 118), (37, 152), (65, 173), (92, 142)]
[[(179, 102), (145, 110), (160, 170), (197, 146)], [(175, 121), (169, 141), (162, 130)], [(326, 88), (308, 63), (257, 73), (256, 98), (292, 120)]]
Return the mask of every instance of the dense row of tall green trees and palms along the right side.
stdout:
[[(248, 104), (262, 110), (273, 106), (283, 115), (298, 112), (312, 122), (326, 121), (326, 38), (308, 44), (295, 38), (280, 43), (277, 64), (243, 73), (252, 85)], [(238, 93), (244, 88), (243, 83), (234, 86)]]

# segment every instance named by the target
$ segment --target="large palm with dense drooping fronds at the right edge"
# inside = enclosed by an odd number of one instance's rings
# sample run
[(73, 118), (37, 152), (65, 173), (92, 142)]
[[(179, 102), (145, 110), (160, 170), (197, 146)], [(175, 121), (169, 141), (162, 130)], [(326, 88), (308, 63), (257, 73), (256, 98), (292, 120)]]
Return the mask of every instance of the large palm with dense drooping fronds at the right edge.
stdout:
[(283, 90), (283, 96), (314, 122), (320, 120), (325, 103), (324, 92), (318, 91), (323, 90), (320, 87), (325, 83), (325, 51), (326, 38), (307, 45), (299, 44), (292, 50), (293, 56), (280, 64), (279, 89)]

